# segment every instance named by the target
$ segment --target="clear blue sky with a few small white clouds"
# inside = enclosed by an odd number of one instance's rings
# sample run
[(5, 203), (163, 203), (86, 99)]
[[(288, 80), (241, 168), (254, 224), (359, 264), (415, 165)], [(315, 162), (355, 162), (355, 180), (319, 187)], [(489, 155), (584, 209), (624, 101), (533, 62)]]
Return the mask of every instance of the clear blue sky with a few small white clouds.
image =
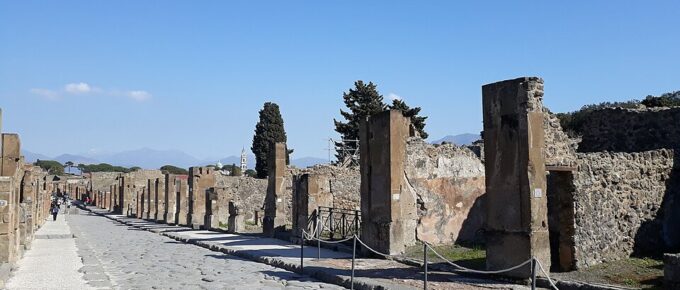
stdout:
[[(550, 2), (550, 3), (548, 3)], [(1, 1), (3, 131), (47, 155), (250, 147), (281, 107), (326, 157), (342, 92), (373, 81), (477, 133), (481, 86), (545, 80), (556, 112), (680, 90), (679, 1)]]

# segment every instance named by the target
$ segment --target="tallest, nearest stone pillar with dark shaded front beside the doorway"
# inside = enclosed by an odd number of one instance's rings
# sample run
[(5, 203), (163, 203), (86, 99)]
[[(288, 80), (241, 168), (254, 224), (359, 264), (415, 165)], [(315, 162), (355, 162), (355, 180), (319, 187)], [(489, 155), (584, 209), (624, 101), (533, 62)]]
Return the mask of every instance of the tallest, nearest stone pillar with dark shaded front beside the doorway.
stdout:
[[(550, 268), (543, 80), (518, 78), (482, 87), (486, 169), (486, 268), (536, 257)], [(529, 278), (530, 266), (506, 273)]]

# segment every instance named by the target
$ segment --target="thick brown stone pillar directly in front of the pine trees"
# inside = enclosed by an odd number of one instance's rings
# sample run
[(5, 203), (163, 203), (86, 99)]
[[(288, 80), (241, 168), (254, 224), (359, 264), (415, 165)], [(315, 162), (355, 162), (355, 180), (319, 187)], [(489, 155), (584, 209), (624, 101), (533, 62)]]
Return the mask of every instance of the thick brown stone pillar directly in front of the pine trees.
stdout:
[(416, 242), (415, 193), (404, 177), (409, 127), (396, 110), (373, 115), (360, 127), (361, 239), (382, 253), (401, 254)]

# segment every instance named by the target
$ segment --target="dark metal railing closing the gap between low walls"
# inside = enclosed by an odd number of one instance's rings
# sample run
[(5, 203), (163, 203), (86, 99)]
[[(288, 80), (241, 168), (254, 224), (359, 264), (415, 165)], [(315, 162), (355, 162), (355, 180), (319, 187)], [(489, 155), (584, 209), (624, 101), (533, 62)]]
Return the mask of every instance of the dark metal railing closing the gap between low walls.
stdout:
[(361, 211), (320, 206), (316, 210), (315, 237), (330, 240), (345, 239), (361, 233)]

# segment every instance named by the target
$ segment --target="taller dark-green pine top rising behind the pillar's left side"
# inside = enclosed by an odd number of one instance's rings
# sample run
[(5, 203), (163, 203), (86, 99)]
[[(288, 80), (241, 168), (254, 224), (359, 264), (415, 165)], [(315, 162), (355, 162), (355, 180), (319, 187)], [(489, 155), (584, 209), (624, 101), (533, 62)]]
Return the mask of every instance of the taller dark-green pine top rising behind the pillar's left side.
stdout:
[[(335, 131), (343, 140), (359, 140), (359, 125), (366, 117), (384, 111), (387, 106), (383, 103), (383, 96), (378, 93), (376, 86), (369, 82), (365, 84), (359, 80), (354, 82), (354, 88), (342, 93), (343, 101), (349, 111), (340, 110), (340, 115), (345, 122), (333, 119)], [(338, 146), (343, 144), (336, 144)], [(358, 143), (348, 142), (344, 146), (348, 149), (356, 149)], [(335, 156), (338, 160), (345, 159), (345, 152), (338, 151)]]

